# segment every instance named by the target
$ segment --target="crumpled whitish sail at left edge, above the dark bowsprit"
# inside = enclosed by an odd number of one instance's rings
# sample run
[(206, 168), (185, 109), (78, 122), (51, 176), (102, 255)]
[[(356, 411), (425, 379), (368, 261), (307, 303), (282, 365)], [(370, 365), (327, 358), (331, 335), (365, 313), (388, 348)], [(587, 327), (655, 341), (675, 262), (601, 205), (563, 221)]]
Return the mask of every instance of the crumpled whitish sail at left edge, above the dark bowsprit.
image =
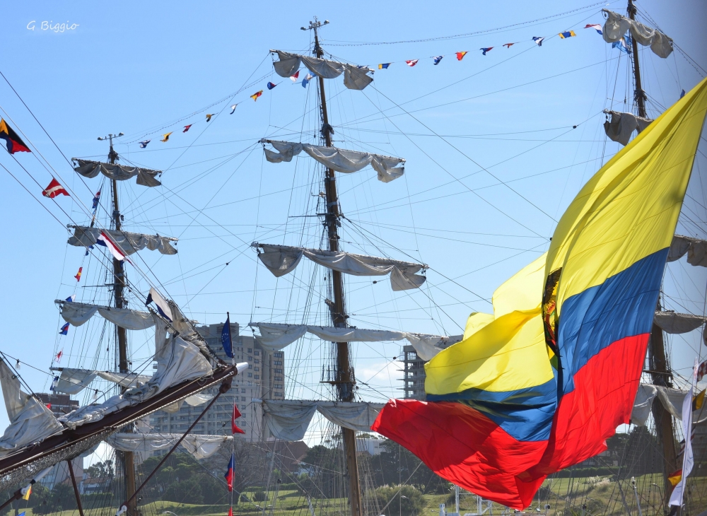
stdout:
[(46, 439), (64, 427), (39, 399), (20, 387), (20, 380), (0, 359), (0, 387), (10, 426), (0, 437), (0, 455)]

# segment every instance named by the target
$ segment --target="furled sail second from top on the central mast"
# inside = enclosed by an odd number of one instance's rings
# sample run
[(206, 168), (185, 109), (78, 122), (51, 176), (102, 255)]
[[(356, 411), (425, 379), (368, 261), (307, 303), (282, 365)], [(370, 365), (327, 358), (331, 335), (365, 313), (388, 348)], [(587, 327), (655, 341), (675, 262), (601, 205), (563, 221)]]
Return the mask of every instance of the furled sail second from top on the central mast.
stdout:
[[(350, 174), (358, 172), (370, 163), (370, 166), (378, 172), (378, 180), (384, 183), (391, 182), (402, 176), (405, 172), (405, 160), (403, 158), (393, 158), (382, 154), (373, 154), (360, 151), (347, 151), (337, 147), (322, 147), (311, 145), (310, 143), (294, 143), (291, 141), (261, 140), (260, 143), (270, 143), (275, 148), (271, 151), (264, 148), (265, 159), (270, 163), (289, 162), (294, 156), (305, 151), (312, 158), (322, 165), (332, 168), (337, 172)], [(398, 166), (400, 165), (400, 166)]]

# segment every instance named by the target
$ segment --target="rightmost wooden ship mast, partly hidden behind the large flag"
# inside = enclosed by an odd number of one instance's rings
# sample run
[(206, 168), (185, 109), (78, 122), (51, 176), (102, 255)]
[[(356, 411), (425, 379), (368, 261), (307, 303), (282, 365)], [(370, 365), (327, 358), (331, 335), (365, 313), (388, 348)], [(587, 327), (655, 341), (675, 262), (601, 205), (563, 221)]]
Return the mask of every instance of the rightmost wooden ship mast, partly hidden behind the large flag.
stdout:
[[(631, 20), (636, 19), (636, 6), (633, 5), (633, 0), (629, 0), (628, 14)], [(631, 38), (631, 46), (633, 47), (633, 78), (636, 85), (633, 99), (638, 106), (638, 116), (648, 118), (645, 112), (645, 92), (643, 88), (641, 88), (641, 67), (638, 64), (638, 42), (636, 42), (635, 37)], [(656, 310), (660, 310), (660, 302)], [(650, 377), (651, 380), (653, 380), (653, 385), (672, 388), (672, 375), (670, 374), (667, 357), (665, 356), (665, 342), (663, 341), (662, 329), (658, 324), (655, 324), (655, 322), (653, 322), (653, 329), (651, 329), (650, 341), (648, 342), (648, 363), (650, 364)], [(672, 490), (672, 484), (668, 481), (667, 477), (677, 469), (672, 416), (662, 403), (654, 403), (651, 413), (655, 421), (655, 433), (658, 442), (660, 442), (662, 446), (663, 493), (665, 493), (664, 507), (667, 508), (670, 501), (670, 492)]]

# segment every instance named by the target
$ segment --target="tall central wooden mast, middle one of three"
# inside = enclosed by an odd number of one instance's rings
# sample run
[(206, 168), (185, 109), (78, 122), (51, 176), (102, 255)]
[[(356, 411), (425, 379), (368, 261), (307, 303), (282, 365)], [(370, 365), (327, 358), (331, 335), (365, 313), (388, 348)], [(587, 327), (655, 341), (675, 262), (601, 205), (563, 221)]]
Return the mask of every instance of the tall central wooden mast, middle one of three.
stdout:
[[(319, 34), (317, 30), (322, 25), (327, 25), (328, 20), (324, 23), (317, 20), (310, 21), (309, 30), (314, 31), (314, 54), (322, 59), (324, 51), (319, 45)], [(308, 30), (303, 27), (303, 30)], [(329, 125), (329, 113), (327, 112), (327, 95), (324, 88), (324, 78), (319, 77), (319, 96), (322, 106), (322, 135), (324, 136), (325, 146), (332, 147), (332, 127)], [(339, 197), (337, 195), (337, 177), (334, 169), (327, 168), (327, 174), (324, 179), (325, 194), (327, 201), (326, 225), (327, 237), (329, 240), (329, 251), (339, 251)], [(346, 305), (344, 303), (344, 282), (341, 278), (341, 272), (331, 271), (332, 288), (334, 291), (334, 303), (330, 305), (332, 312), (332, 323), (334, 327), (346, 327)], [(354, 401), (354, 386), (356, 378), (354, 377), (354, 368), (351, 367), (349, 359), (349, 343), (337, 342), (337, 367), (336, 376), (332, 384), (337, 387), (337, 397), (339, 401)], [(361, 506), (361, 483), (358, 480), (358, 458), (356, 457), (356, 431), (350, 428), (341, 427), (341, 434), (344, 440), (344, 455), (346, 456), (346, 469), (349, 473), (349, 500), (351, 503), (351, 516), (363, 516), (363, 508)]]

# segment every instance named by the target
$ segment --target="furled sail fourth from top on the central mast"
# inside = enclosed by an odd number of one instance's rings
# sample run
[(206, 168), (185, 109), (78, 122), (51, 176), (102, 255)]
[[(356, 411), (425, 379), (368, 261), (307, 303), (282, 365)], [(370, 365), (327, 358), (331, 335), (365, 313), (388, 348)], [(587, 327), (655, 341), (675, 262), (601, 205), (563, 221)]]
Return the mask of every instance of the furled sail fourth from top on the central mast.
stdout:
[(281, 324), (274, 322), (250, 322), (248, 326), (259, 329), (255, 340), (268, 351), (279, 351), (289, 346), (305, 333), (332, 342), (384, 342), (407, 339), (423, 360), (431, 360), (443, 348), (462, 340), (461, 335), (441, 336), (411, 332), (395, 332), (383, 329), (337, 328), (312, 324)]

